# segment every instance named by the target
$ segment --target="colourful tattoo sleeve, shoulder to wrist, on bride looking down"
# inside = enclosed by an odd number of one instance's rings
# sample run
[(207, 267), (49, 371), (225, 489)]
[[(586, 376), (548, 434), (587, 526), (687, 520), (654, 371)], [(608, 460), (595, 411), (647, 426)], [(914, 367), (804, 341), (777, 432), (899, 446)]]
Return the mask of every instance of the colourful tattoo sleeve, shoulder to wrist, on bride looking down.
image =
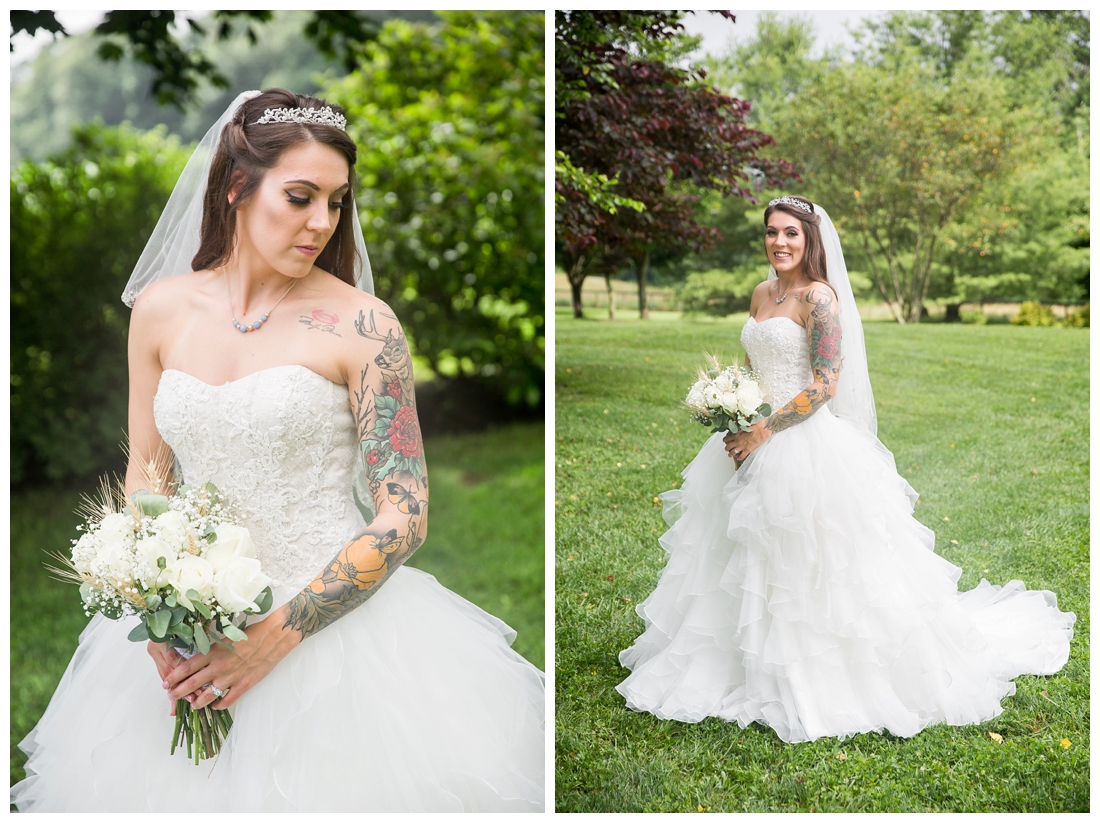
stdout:
[(424, 544), (428, 528), (428, 475), (416, 414), (413, 362), (396, 318), (361, 311), (355, 331), (382, 350), (363, 366), (351, 388), (375, 518), (344, 546), (329, 566), (288, 604), (284, 628), (308, 637), (340, 619), (378, 590)]

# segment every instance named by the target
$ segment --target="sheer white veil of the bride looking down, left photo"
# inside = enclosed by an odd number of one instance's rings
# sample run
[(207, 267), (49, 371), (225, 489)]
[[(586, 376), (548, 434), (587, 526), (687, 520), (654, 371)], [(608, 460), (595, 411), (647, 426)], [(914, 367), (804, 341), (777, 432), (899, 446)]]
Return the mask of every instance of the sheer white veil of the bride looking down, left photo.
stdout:
[[(202, 135), (195, 153), (184, 166), (176, 187), (172, 190), (168, 205), (164, 207), (156, 228), (145, 244), (145, 251), (138, 259), (130, 282), (122, 293), (122, 301), (133, 308), (138, 295), (154, 281), (174, 277), (191, 271), (191, 259), (199, 250), (199, 231), (202, 227), (202, 197), (206, 194), (207, 178), (210, 176), (210, 165), (213, 163), (215, 150), (221, 139), (221, 130), (233, 119), (237, 110), (245, 100), (250, 100), (258, 91), (243, 91), (230, 103), (226, 112)], [(374, 278), (371, 276), (371, 260), (366, 255), (366, 244), (363, 242), (363, 229), (359, 222), (359, 211), (354, 201), (351, 207), (351, 220), (355, 238), (355, 249), (359, 250), (359, 264), (355, 267), (355, 285), (367, 294), (374, 294)]]

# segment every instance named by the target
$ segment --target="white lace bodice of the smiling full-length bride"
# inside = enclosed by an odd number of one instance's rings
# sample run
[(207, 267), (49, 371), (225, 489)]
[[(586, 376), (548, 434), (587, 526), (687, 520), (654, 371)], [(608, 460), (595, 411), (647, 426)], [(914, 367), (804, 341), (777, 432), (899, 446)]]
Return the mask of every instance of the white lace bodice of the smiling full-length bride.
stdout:
[(806, 330), (787, 317), (762, 322), (749, 318), (741, 329), (741, 345), (760, 374), (765, 399), (779, 410), (813, 383)]

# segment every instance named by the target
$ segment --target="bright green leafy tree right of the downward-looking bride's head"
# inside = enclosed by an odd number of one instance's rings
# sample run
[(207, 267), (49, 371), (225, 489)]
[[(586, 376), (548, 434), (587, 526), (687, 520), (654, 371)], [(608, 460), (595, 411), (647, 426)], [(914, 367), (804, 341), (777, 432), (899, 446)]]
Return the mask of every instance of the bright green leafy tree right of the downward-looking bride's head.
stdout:
[(448, 377), (543, 383), (543, 31), (535, 12), (387, 23), (326, 94), (360, 146), (375, 287)]

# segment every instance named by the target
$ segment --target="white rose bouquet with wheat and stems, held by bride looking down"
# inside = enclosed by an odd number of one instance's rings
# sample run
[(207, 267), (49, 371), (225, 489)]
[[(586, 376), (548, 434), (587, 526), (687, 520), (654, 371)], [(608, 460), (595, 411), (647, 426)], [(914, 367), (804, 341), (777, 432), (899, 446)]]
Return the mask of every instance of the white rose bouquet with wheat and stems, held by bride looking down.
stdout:
[[(184, 658), (211, 643), (245, 640), (245, 615), (272, 605), (246, 528), (234, 525), (217, 487), (173, 485), (166, 452), (143, 467), (146, 487), (133, 497), (121, 481), (103, 481), (99, 500), (81, 507), (86, 522), (69, 555), (53, 553), (62, 580), (78, 583), (85, 614), (117, 621), (136, 614), (129, 638), (174, 647)], [(195, 762), (217, 755), (232, 725), (228, 710), (176, 702), (172, 754), (186, 745)]]

